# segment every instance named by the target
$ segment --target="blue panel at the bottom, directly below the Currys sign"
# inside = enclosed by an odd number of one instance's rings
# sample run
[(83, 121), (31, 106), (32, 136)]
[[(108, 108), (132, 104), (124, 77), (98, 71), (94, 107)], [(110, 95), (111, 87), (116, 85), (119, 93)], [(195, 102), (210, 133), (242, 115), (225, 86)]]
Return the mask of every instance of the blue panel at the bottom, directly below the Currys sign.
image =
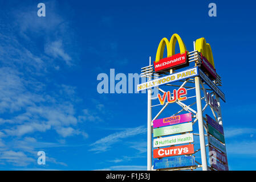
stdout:
[(154, 169), (196, 166), (194, 156), (173, 156), (154, 161)]

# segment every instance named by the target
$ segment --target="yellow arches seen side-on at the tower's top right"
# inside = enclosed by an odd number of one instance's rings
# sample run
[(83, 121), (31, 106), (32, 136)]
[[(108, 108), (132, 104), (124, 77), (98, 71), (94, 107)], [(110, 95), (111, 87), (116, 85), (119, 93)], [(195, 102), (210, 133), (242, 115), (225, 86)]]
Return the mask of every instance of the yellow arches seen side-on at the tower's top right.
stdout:
[(210, 44), (206, 43), (205, 38), (200, 38), (196, 40), (196, 50), (198, 52), (201, 52), (202, 55), (206, 57), (206, 59), (209, 61), (210, 64), (212, 64), (213, 68), (215, 69), (212, 48), (210, 47)]

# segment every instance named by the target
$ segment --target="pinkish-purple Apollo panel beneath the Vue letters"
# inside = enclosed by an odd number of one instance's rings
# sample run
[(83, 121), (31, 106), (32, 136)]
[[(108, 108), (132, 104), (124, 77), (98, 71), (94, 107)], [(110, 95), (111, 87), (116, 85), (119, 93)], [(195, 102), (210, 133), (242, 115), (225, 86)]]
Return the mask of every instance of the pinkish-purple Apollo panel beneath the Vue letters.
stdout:
[(175, 125), (175, 124), (189, 122), (189, 121), (192, 121), (191, 113), (174, 115), (168, 118), (155, 119), (153, 121), (153, 127), (155, 128), (155, 127), (161, 127), (161, 126), (169, 126), (169, 125)]

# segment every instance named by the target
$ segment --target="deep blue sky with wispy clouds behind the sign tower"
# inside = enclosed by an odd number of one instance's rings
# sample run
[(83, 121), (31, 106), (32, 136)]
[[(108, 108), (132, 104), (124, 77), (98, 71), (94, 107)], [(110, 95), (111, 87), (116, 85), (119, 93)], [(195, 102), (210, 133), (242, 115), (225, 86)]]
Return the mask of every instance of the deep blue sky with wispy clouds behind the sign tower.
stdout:
[(0, 1), (0, 169), (147, 169), (147, 94), (99, 94), (96, 78), (140, 73), (177, 33), (210, 43), (229, 168), (255, 170), (255, 2), (209, 17), (210, 2)]

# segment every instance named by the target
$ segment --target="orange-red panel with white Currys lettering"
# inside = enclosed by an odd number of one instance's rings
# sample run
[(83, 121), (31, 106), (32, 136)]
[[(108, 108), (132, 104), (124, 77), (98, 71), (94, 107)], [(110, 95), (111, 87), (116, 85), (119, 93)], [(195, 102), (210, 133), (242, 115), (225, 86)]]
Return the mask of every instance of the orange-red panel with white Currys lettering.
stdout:
[(164, 158), (168, 156), (194, 154), (194, 144), (186, 144), (185, 146), (159, 148), (153, 150), (153, 158)]

